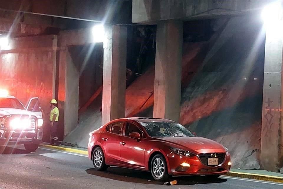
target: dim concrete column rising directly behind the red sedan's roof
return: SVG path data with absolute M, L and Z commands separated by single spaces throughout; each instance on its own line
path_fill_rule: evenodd
M 155 118 L 179 121 L 182 45 L 182 21 L 157 23 L 153 107 Z

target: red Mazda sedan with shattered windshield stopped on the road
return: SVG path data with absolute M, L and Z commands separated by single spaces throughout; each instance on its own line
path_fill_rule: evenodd
M 158 181 L 170 175 L 217 178 L 231 168 L 226 147 L 167 119 L 113 120 L 90 133 L 88 154 L 96 170 L 119 166 L 150 171 Z

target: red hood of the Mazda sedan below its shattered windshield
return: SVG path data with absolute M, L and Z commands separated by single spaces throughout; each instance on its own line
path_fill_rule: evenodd
M 159 139 L 162 141 L 170 142 L 175 145 L 181 145 L 195 151 L 199 151 L 202 149 L 225 150 L 225 147 L 219 144 L 218 142 L 203 137 L 164 137 Z

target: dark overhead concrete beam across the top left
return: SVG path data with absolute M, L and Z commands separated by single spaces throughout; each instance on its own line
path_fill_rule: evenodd
M 128 6 L 123 3 L 128 1 Z M 0 0 L 0 8 L 29 14 L 78 19 L 85 21 L 111 22 L 130 18 L 129 0 Z M 123 11 L 121 11 L 123 10 Z M 129 20 L 130 22 L 130 20 Z

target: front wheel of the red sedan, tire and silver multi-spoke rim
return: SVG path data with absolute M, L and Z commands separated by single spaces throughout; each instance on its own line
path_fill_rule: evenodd
M 167 181 L 169 174 L 166 159 L 161 154 L 156 154 L 150 163 L 150 172 L 157 181 Z

